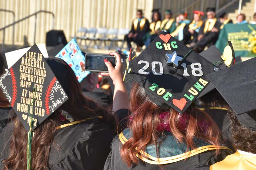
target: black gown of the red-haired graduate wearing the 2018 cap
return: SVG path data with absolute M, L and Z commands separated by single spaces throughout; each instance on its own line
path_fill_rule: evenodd
M 123 163 L 120 157 L 120 148 L 122 147 L 122 143 L 120 142 L 120 140 L 122 138 L 120 139 L 119 138 L 120 136 L 116 136 L 113 139 L 113 142 L 111 145 L 112 150 L 109 153 L 109 156 L 105 162 L 104 170 L 120 170 L 120 169 L 122 170 L 144 170 L 144 169 L 145 170 L 192 170 L 192 169 L 201 170 L 202 169 L 203 170 L 203 169 L 209 169 L 209 165 L 214 164 L 215 162 L 222 161 L 227 155 L 233 153 L 228 149 L 221 149 L 220 150 L 221 153 L 219 155 L 215 155 L 215 150 L 208 150 L 208 151 L 198 153 L 194 156 L 191 156 L 186 160 L 182 159 L 179 161 L 174 161 L 173 163 L 161 164 L 161 165 L 150 164 L 139 159 L 139 163 L 136 166 L 132 166 L 132 168 L 128 168 L 126 164 Z M 167 157 L 169 155 L 169 152 L 167 152 L 166 150 L 173 152 L 171 153 L 172 154 L 171 156 L 175 155 L 176 158 L 177 158 L 177 155 L 181 155 L 182 153 L 184 153 L 184 152 L 181 152 L 179 147 L 177 147 L 178 145 L 175 144 L 175 141 L 169 143 L 167 146 L 169 147 L 169 149 L 165 148 L 162 150 L 163 154 L 165 154 L 165 156 Z M 161 149 L 162 147 L 160 148 L 160 152 L 161 152 Z M 183 148 L 182 150 L 184 149 L 186 150 L 186 148 Z M 150 152 L 150 150 L 152 152 L 152 149 L 149 148 L 148 151 Z M 168 159 L 169 158 L 170 159 L 173 158 L 173 160 L 175 159 L 174 157 L 172 158 L 168 157 Z

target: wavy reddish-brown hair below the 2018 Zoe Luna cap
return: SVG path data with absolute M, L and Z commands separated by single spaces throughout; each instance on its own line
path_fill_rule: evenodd
M 145 151 L 149 144 L 161 144 L 159 137 L 162 132 L 156 130 L 157 125 L 161 121 L 159 115 L 167 110 L 162 110 L 153 103 L 142 86 L 137 83 L 133 84 L 130 93 L 130 110 L 133 113 L 133 120 L 129 124 L 132 132 L 131 138 L 122 145 L 120 154 L 122 160 L 130 167 L 132 164 L 138 163 L 136 154 L 140 150 Z M 170 129 L 178 143 L 185 142 L 188 149 L 195 149 L 194 139 L 198 138 L 217 147 L 216 153 L 219 152 L 221 132 L 216 123 L 205 112 L 190 106 L 186 111 L 188 113 L 187 127 L 184 129 L 179 122 L 179 113 L 172 109 L 170 111 Z M 136 113 L 136 114 L 135 114 Z M 198 122 L 205 122 L 207 127 L 205 131 L 201 131 Z M 156 150 L 158 154 L 158 150 Z

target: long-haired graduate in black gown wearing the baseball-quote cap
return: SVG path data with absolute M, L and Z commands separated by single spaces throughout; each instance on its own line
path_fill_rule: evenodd
M 34 45 L 9 72 L 2 83 L 12 84 L 16 114 L 0 135 L 0 169 L 103 169 L 116 122 L 82 94 L 70 66 Z

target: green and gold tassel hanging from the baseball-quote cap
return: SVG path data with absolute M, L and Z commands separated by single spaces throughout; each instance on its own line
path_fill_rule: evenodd
M 27 170 L 32 170 L 32 159 L 31 159 L 31 147 L 32 147 L 32 137 L 33 137 L 33 106 L 35 103 L 36 98 L 36 88 L 33 87 L 34 97 L 32 103 L 28 107 L 28 114 L 30 114 L 30 107 L 32 106 L 32 114 L 30 114 L 30 121 L 29 121 L 29 132 L 27 136 Z

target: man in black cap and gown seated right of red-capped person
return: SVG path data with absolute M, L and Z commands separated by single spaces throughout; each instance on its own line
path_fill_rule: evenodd
M 215 17 L 215 8 L 207 8 L 206 15 L 207 20 L 199 30 L 197 41 L 190 44 L 190 48 L 197 53 L 203 51 L 206 46 L 215 44 L 220 32 L 221 23 Z

